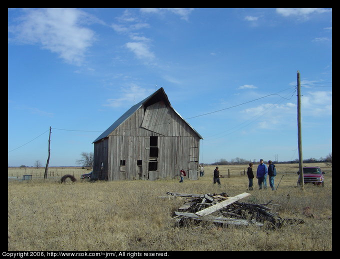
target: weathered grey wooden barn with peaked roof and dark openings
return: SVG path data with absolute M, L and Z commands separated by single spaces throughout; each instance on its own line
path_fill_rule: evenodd
M 171 106 L 164 89 L 133 105 L 94 141 L 92 178 L 197 179 L 202 137 Z

